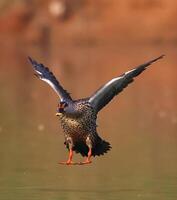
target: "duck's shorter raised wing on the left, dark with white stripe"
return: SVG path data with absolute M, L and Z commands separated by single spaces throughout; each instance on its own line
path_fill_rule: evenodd
M 69 93 L 63 89 L 63 87 L 57 81 L 53 73 L 49 71 L 47 67 L 45 67 L 43 64 L 37 63 L 35 60 L 33 60 L 30 57 L 28 57 L 28 59 L 31 62 L 33 69 L 36 72 L 35 75 L 39 79 L 48 83 L 54 89 L 54 91 L 58 94 L 61 101 L 72 100 Z

